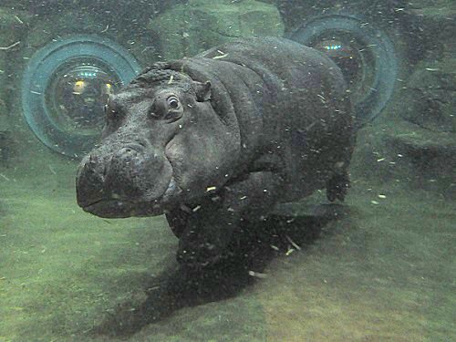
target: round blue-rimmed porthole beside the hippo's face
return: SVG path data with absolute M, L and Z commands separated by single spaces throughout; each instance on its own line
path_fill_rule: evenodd
M 22 106 L 36 137 L 59 153 L 91 150 L 109 94 L 140 72 L 123 47 L 100 36 L 69 36 L 36 51 L 22 80 Z

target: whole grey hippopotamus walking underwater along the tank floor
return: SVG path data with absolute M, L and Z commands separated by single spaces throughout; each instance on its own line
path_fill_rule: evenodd
M 180 264 L 216 263 L 278 203 L 325 188 L 344 200 L 351 108 L 334 62 L 282 38 L 156 63 L 109 97 L 78 205 L 105 218 L 164 213 Z

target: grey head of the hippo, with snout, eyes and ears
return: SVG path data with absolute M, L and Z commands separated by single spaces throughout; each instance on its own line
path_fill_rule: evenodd
M 211 83 L 156 65 L 111 96 L 100 144 L 78 168 L 78 205 L 101 217 L 152 216 L 220 188 L 240 138 L 211 93 Z

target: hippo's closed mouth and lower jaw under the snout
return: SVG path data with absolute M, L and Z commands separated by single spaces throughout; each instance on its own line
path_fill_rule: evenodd
M 181 193 L 179 185 L 171 178 L 166 191 L 158 199 L 132 201 L 130 198 L 105 197 L 88 202 L 82 208 L 104 218 L 126 218 L 131 216 L 157 216 L 171 208 Z M 171 201 L 172 199 L 172 201 Z

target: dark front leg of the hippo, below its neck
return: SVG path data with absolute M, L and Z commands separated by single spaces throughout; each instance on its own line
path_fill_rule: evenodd
M 178 261 L 205 266 L 220 259 L 244 218 L 260 219 L 274 207 L 281 183 L 271 171 L 252 172 L 193 208 L 182 230 Z

